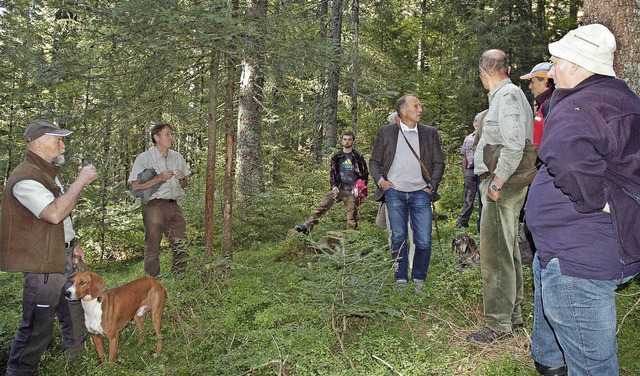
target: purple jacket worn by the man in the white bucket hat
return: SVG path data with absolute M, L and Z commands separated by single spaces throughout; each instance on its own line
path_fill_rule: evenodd
M 543 267 L 614 280 L 640 271 L 640 99 L 619 79 L 594 75 L 556 89 L 527 201 Z M 606 203 L 611 214 L 604 213 Z

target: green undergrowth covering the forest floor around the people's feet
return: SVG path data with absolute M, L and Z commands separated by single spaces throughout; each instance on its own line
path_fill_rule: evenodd
M 87 355 L 69 364 L 56 328 L 38 374 L 536 375 L 529 357 L 530 268 L 524 271 L 525 330 L 491 345 L 468 344 L 466 335 L 482 327 L 482 286 L 479 267 L 455 270 L 454 223 L 440 223 L 440 241 L 434 233 L 424 293 L 411 286 L 397 291 L 386 232 L 372 224 L 375 204 L 367 205 L 357 231 L 336 231 L 344 227 L 341 208 L 308 237 L 287 234 L 295 219 L 273 213 L 272 225 L 259 229 L 268 240 L 247 233 L 236 241 L 233 259 L 191 245 L 188 271 L 160 278 L 169 298 L 159 356 L 150 320 L 143 336 L 133 324 L 121 331 L 115 363 L 101 363 L 89 344 Z M 163 271 L 169 263 L 165 250 Z M 110 287 L 143 275 L 141 257 L 90 260 L 89 266 Z M 623 375 L 640 374 L 639 290 L 633 282 L 618 299 Z M 0 297 L 4 366 L 19 322 L 21 275 L 0 273 Z

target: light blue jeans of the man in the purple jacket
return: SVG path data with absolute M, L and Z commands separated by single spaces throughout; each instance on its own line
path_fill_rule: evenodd
M 548 367 L 566 363 L 570 375 L 617 375 L 616 293 L 621 280 L 562 275 L 560 262 L 542 268 L 533 258 L 531 357 Z

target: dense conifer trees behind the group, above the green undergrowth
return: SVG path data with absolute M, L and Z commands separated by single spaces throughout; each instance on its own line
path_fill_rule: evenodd
M 367 155 L 396 99 L 414 93 L 457 164 L 486 107 L 483 50 L 504 49 L 530 95 L 517 77 L 549 58 L 550 41 L 581 17 L 637 30 L 634 9 L 578 0 L 0 1 L 2 185 L 27 124 L 42 117 L 74 131 L 66 179 L 86 163 L 100 174 L 77 222 L 101 258 L 120 257 L 139 229 L 131 164 L 150 127 L 169 122 L 194 173 L 183 204 L 193 237 L 232 254 L 236 205 L 289 185 L 295 171 L 325 170 L 341 131 L 356 131 Z M 617 34 L 629 42 L 620 55 L 632 56 L 619 75 L 637 89 L 637 33 Z

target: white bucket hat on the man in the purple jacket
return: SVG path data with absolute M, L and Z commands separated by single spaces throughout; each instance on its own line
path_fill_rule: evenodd
M 589 72 L 616 76 L 613 53 L 616 38 L 606 26 L 591 24 L 571 30 L 562 39 L 549 44 L 553 56 L 577 64 Z

